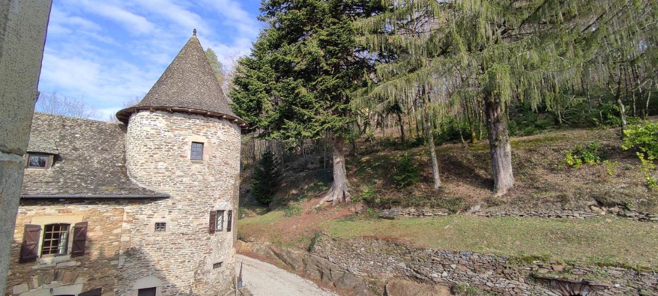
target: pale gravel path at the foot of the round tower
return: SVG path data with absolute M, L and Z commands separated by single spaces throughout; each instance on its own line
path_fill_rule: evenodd
M 242 280 L 254 296 L 338 296 L 296 274 L 243 255 L 236 255 L 237 272 L 240 262 L 244 264 Z

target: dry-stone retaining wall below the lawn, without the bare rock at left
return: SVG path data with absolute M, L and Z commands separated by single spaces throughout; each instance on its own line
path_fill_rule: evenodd
M 561 296 L 560 285 L 586 285 L 589 295 L 658 295 L 658 274 L 625 268 L 574 266 L 549 261 L 512 262 L 507 257 L 415 249 L 374 239 L 322 236 L 312 253 L 361 278 L 415 278 L 467 284 L 499 295 Z

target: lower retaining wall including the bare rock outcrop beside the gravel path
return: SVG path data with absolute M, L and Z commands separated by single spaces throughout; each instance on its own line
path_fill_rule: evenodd
M 367 289 L 372 283 L 368 280 L 382 288 L 393 279 L 410 279 L 442 287 L 470 285 L 505 296 L 658 296 L 658 274 L 653 271 L 513 260 L 469 251 L 411 248 L 376 239 L 323 235 L 311 253 L 240 241 L 238 250 L 283 262 L 297 274 L 349 291 L 349 295 L 381 295 Z

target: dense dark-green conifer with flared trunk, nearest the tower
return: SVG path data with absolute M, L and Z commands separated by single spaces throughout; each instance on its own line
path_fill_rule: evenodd
M 343 153 L 350 94 L 372 66 L 356 45 L 353 20 L 379 7 L 374 0 L 264 1 L 260 19 L 269 26 L 239 62 L 231 93 L 238 115 L 261 137 L 292 148 L 331 135 L 334 182 L 324 200 L 334 205 L 350 200 Z

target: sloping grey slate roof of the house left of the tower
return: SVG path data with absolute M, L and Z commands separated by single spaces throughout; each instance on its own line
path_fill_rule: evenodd
M 126 172 L 126 126 L 35 112 L 29 152 L 54 154 L 49 170 L 25 170 L 21 196 L 166 197 Z

